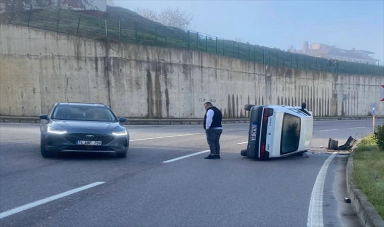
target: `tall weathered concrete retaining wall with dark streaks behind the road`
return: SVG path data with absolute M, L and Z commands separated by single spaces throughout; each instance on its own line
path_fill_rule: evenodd
M 0 115 L 36 116 L 55 101 L 103 102 L 128 118 L 202 118 L 212 101 L 226 118 L 244 104 L 307 107 L 315 116 L 366 116 L 382 76 L 265 66 L 214 54 L 105 43 L 1 24 Z

